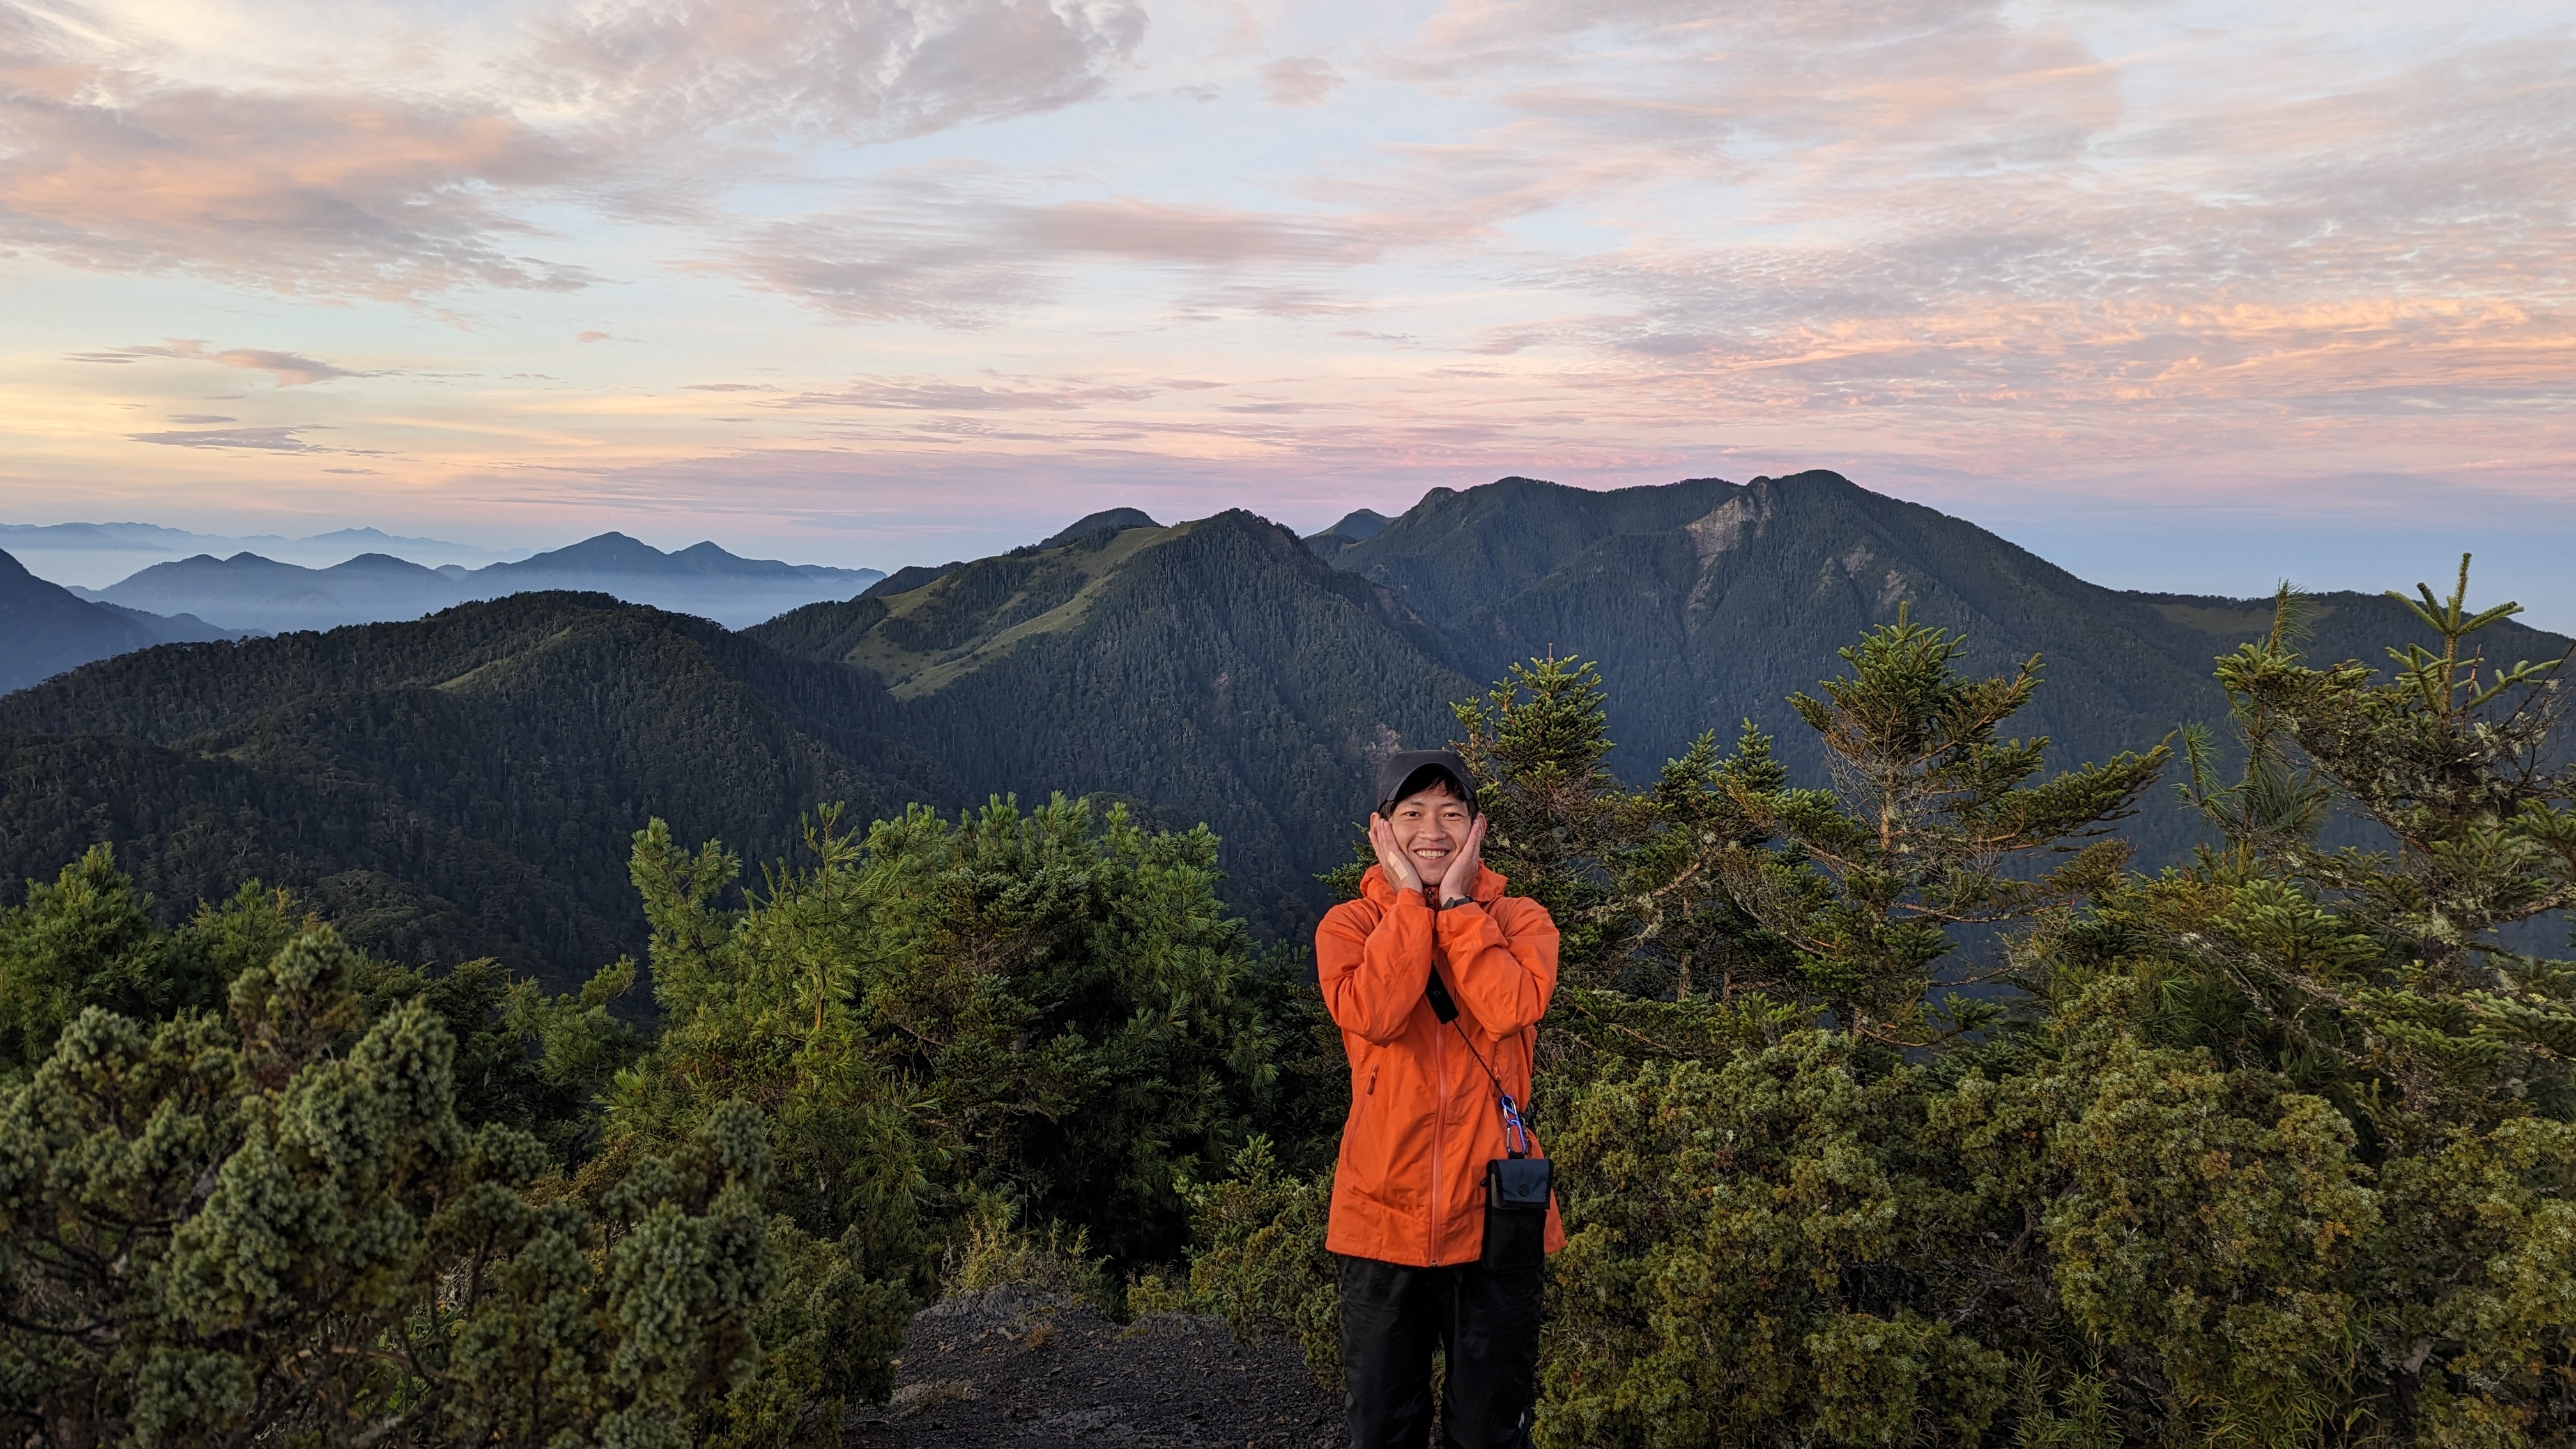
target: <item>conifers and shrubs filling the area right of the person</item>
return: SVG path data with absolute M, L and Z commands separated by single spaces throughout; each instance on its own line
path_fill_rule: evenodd
M 2483 657 L 2465 588 L 2378 670 L 2282 590 L 2154 877 L 2105 825 L 2166 748 L 2048 773 L 2040 660 L 1904 614 L 1793 699 L 1829 789 L 1752 727 L 1623 789 L 1579 660 L 1461 704 L 1486 861 L 1564 923 L 1538 1441 L 2576 1434 L 2576 964 L 2504 938 L 2576 887 L 2566 660 Z M 1327 1194 L 1247 1150 L 1190 1292 L 1329 1374 Z

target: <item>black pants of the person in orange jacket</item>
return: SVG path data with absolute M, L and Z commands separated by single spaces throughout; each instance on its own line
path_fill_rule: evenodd
M 1525 1449 L 1538 1403 L 1540 1269 L 1406 1269 L 1342 1258 L 1342 1379 L 1350 1449 L 1422 1449 L 1432 1436 L 1432 1346 L 1448 1351 L 1448 1449 Z

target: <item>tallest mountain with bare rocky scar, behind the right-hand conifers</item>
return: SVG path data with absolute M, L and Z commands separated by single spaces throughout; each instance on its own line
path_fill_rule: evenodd
M 1610 763 L 1633 781 L 1700 730 L 1726 737 L 1744 717 L 1814 779 L 1824 758 L 1795 727 L 1788 694 L 1842 673 L 1837 650 L 1901 606 L 1965 634 L 1973 670 L 2007 673 L 2043 655 L 2048 683 L 2014 724 L 2045 732 L 2058 763 L 2146 750 L 2187 719 L 2223 719 L 2210 660 L 2272 621 L 2269 601 L 2084 583 L 1968 521 L 1832 472 L 1615 492 L 1520 477 L 1432 490 L 1332 562 L 1422 608 L 1476 678 L 1551 647 L 1597 660 L 1620 743 Z M 2439 583 L 2455 562 L 2424 559 Z M 2321 603 L 2316 657 L 2383 663 L 2388 639 L 2421 634 L 2388 598 Z M 2555 657 L 2568 642 L 2506 624 L 2491 647 Z M 2195 838 L 2161 794 L 2130 830 L 2159 856 Z

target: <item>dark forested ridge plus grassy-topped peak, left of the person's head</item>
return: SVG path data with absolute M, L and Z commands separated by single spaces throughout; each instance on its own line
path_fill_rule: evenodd
M 0 699 L 0 871 L 111 841 L 173 908 L 260 877 L 386 951 L 562 977 L 634 949 L 626 848 L 654 815 L 757 866 L 817 802 L 1061 789 L 1213 825 L 1229 902 L 1296 936 L 1370 753 L 1445 740 L 1471 688 L 1401 601 L 1249 513 L 1095 529 L 744 634 L 528 593 Z

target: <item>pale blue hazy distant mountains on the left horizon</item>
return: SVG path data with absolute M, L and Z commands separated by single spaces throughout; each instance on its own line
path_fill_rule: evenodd
M 569 588 L 744 627 L 817 598 L 850 598 L 881 578 L 881 570 L 742 559 L 716 544 L 665 554 L 626 534 L 600 534 L 474 570 L 422 567 L 384 552 L 330 567 L 252 552 L 227 559 L 196 554 L 152 565 L 108 588 L 72 593 L 155 614 L 196 614 L 232 629 L 286 632 L 420 619 L 474 598 Z

